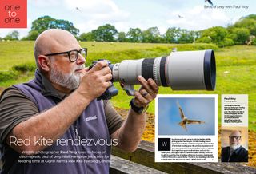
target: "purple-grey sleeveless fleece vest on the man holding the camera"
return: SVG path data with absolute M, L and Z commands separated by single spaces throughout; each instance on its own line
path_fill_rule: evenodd
M 37 71 L 34 80 L 14 85 L 31 101 L 34 101 L 39 113 L 54 107 L 63 100 L 57 93 L 46 90 L 42 82 L 45 80 L 46 78 Z M 2 173 L 109 172 L 111 143 L 102 101 L 92 101 L 78 120 L 59 139 L 68 143 L 63 145 L 60 141 L 58 144 L 55 142 L 41 153 L 35 156 L 25 156 L 25 158 L 4 144 L 1 149 L 3 152 Z M 34 140 L 34 137 L 31 137 L 31 140 Z M 83 144 L 81 144 L 82 141 Z

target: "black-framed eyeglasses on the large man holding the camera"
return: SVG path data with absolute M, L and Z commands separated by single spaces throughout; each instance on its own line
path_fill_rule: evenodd
M 61 52 L 61 53 L 48 53 L 45 56 L 54 56 L 54 55 L 58 55 L 58 54 L 64 54 L 67 53 L 69 56 L 69 59 L 71 62 L 77 61 L 78 60 L 78 55 L 79 53 L 82 55 L 82 57 L 84 57 L 86 59 L 87 57 L 87 49 L 86 48 L 82 48 L 80 50 L 74 49 L 74 50 L 70 50 L 70 51 L 66 51 L 66 52 Z

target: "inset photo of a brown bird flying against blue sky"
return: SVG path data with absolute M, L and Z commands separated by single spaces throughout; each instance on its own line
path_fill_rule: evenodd
M 168 96 L 168 97 L 166 97 Z M 215 135 L 217 95 L 158 97 L 158 135 Z

